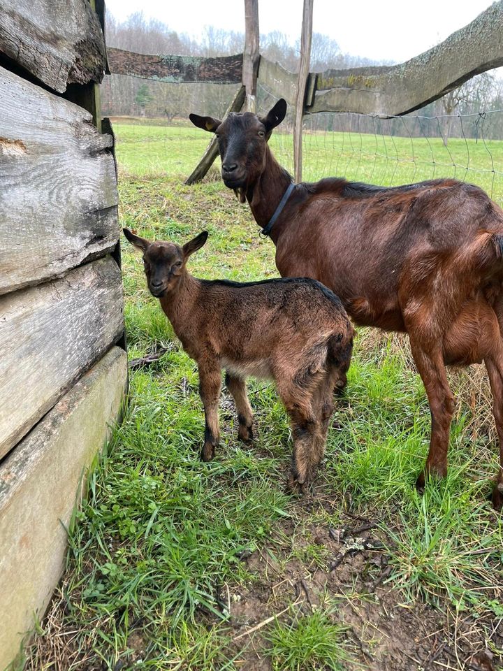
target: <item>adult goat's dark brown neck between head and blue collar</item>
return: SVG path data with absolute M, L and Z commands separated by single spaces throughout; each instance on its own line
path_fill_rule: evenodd
M 264 168 L 258 180 L 247 189 L 251 214 L 262 229 L 267 226 L 288 189 L 291 178 L 279 165 L 269 147 L 265 148 Z

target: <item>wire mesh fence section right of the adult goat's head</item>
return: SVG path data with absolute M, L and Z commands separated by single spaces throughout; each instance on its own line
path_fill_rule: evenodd
M 262 89 L 259 113 L 277 98 Z M 277 159 L 293 171 L 291 120 L 270 140 Z M 281 127 L 279 127 L 281 128 Z M 453 177 L 474 182 L 503 203 L 503 110 L 469 115 L 381 118 L 316 113 L 302 124 L 302 179 L 336 175 L 377 185 Z

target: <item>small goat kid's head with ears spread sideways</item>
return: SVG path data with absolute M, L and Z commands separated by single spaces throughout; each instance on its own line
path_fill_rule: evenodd
M 148 288 L 152 296 L 156 298 L 161 298 L 177 289 L 180 278 L 184 275 L 187 259 L 203 247 L 208 236 L 207 231 L 203 231 L 180 247 L 170 242 L 150 243 L 149 240 L 136 236 L 129 229 L 122 230 L 131 245 L 143 254 L 143 267 L 147 275 Z

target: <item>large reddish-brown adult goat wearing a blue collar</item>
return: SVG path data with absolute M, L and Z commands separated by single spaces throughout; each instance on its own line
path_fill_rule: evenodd
M 432 428 L 417 480 L 444 477 L 454 397 L 445 366 L 486 363 L 500 442 L 493 505 L 503 504 L 503 210 L 453 179 L 378 187 L 327 178 L 292 185 L 267 141 L 286 102 L 265 117 L 224 122 L 191 114 L 217 134 L 221 174 L 276 245 L 283 277 L 307 276 L 340 296 L 353 321 L 409 334 Z

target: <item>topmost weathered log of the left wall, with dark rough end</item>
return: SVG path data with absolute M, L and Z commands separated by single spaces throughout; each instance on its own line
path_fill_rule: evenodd
M 86 0 L 3 0 L 0 52 L 63 93 L 101 82 L 106 66 L 99 18 Z

